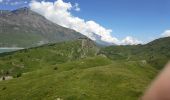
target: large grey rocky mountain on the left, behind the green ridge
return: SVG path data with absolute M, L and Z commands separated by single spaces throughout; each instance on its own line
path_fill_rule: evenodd
M 0 47 L 34 47 L 84 38 L 80 33 L 52 23 L 29 8 L 0 11 Z

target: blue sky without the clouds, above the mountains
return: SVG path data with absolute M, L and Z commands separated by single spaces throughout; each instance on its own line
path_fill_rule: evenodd
M 11 5 L 12 2 L 20 2 Z M 27 2 L 25 2 L 27 1 Z M 17 9 L 28 6 L 29 0 L 4 0 L 0 9 Z M 46 0 L 54 2 L 55 0 Z M 132 36 L 147 42 L 160 37 L 170 29 L 170 0 L 63 0 L 78 3 L 80 11 L 74 16 L 93 20 L 107 29 L 111 35 L 123 39 Z M 8 2 L 8 4 L 6 3 Z

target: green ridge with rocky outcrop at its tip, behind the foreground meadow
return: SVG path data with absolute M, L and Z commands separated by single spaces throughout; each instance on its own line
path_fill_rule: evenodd
M 6 56 L 1 54 L 0 57 L 0 76 L 5 73 L 15 76 L 44 66 L 95 56 L 97 52 L 98 48 L 91 40 L 82 39 L 5 53 Z

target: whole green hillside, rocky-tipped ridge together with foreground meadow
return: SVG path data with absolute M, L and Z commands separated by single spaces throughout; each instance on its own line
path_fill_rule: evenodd
M 0 54 L 0 100 L 137 100 L 157 70 L 99 49 L 81 38 Z

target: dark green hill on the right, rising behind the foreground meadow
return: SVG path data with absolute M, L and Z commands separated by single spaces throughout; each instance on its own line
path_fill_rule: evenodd
M 145 45 L 110 46 L 100 53 L 112 60 L 142 60 L 162 69 L 170 59 L 170 37 L 156 39 Z

